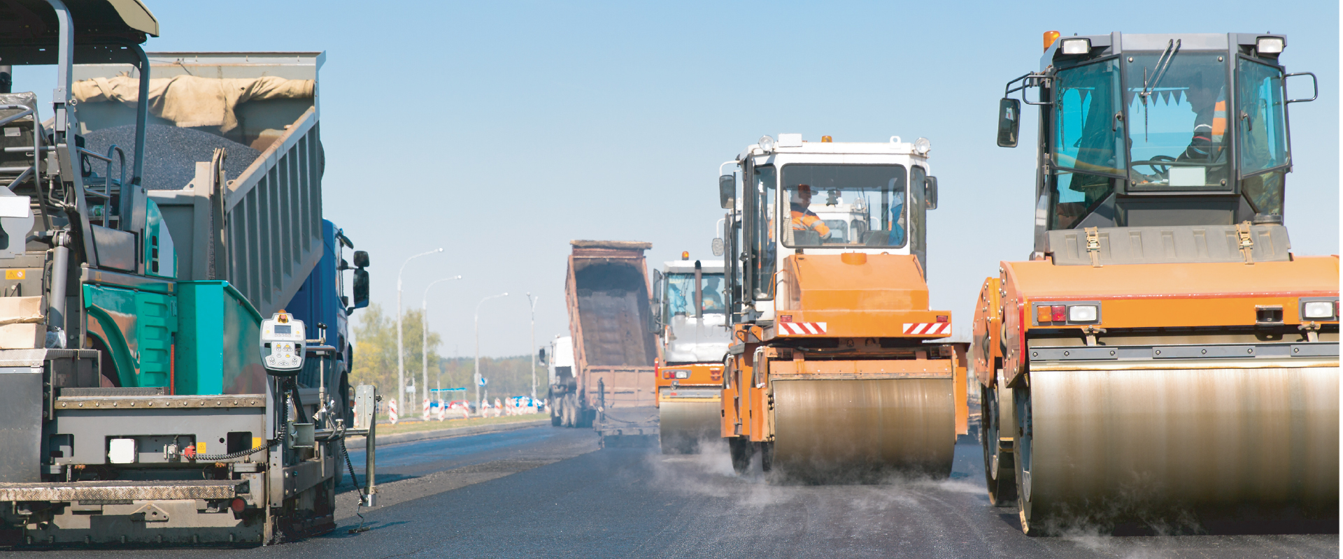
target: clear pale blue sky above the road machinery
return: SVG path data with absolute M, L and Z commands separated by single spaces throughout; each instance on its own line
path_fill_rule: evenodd
M 1339 7 L 1264 3 L 349 3 L 146 0 L 150 51 L 326 51 L 325 213 L 373 261 L 373 302 L 424 286 L 442 353 L 529 350 L 568 331 L 571 239 L 653 243 L 650 263 L 712 257 L 720 162 L 761 134 L 927 137 L 941 206 L 929 286 L 958 332 L 999 260 L 1031 249 L 1030 147 L 994 145 L 1003 83 L 1037 68 L 1041 32 L 1288 35 L 1287 223 L 1297 253 L 1338 253 Z M 1022 126 L 1030 146 L 1034 114 Z M 356 318 L 359 314 L 356 314 Z

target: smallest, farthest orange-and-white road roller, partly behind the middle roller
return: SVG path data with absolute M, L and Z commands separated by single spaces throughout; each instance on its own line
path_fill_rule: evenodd
M 723 260 L 662 263 L 653 271 L 650 330 L 658 336 L 658 440 L 663 454 L 693 454 L 719 440 L 723 359 L 728 353 Z

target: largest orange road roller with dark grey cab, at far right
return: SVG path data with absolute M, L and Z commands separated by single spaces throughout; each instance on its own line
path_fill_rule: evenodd
M 984 475 L 1026 534 L 1336 519 L 1339 261 L 1291 252 L 1275 34 L 1045 34 L 1034 249 L 979 292 Z M 1308 229 L 1307 229 L 1308 231 Z M 1170 525 L 1170 524 L 1167 524 Z

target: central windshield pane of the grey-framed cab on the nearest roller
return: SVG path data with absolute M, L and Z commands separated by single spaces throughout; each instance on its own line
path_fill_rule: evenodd
M 1226 188 L 1225 56 L 1129 56 L 1124 102 L 1135 189 Z

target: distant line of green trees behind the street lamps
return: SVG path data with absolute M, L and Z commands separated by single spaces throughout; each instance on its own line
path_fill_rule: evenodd
M 424 343 L 424 315 L 418 308 L 402 315 L 402 350 L 406 366 L 406 383 L 420 385 L 422 355 L 428 355 L 430 389 L 465 387 L 466 399 L 475 398 L 473 373 L 474 357 L 442 357 L 438 354 L 443 338 L 428 332 Z M 481 375 L 489 383 L 489 398 L 509 395 L 529 395 L 532 374 L 528 369 L 532 355 L 481 357 Z M 379 304 L 363 308 L 355 326 L 355 363 L 351 367 L 351 385 L 376 385 L 379 394 L 388 398 L 396 395 L 396 318 Z M 545 369 L 536 367 L 536 395 L 545 397 Z M 420 393 L 423 394 L 423 393 Z M 483 395 L 483 389 L 482 389 Z

